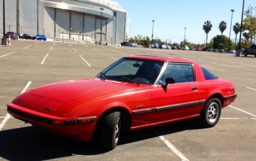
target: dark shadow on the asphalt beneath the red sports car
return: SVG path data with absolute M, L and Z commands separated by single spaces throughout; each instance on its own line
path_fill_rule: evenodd
M 142 130 L 123 131 L 119 146 L 190 129 L 201 129 L 196 119 Z M 7 160 L 46 160 L 107 152 L 95 142 L 65 139 L 32 126 L 0 131 L 0 143 L 0 156 Z

